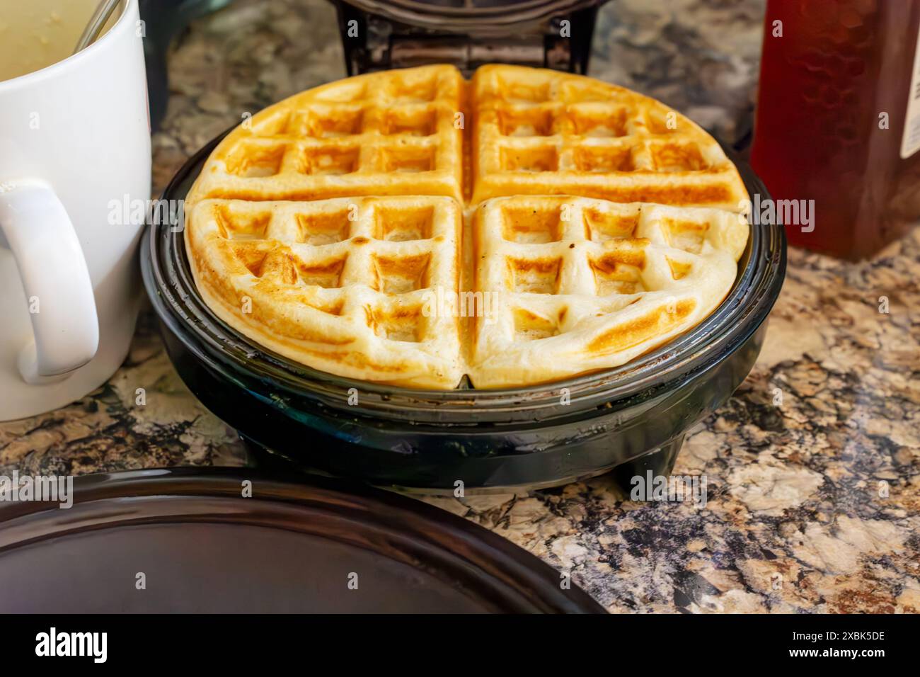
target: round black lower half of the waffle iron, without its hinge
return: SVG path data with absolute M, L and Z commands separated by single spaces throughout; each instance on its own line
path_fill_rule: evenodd
M 225 134 L 178 170 L 164 200 L 185 198 Z M 752 169 L 732 159 L 748 193 L 766 199 Z M 376 385 L 271 353 L 208 309 L 181 229 L 168 223 L 148 228 L 141 265 L 179 376 L 263 461 L 280 457 L 428 491 L 454 491 L 457 483 L 465 490 L 529 489 L 613 471 L 628 490 L 637 474 L 671 473 L 687 430 L 747 377 L 783 283 L 786 239 L 780 224 L 755 220 L 729 297 L 649 354 L 587 376 L 495 391 Z

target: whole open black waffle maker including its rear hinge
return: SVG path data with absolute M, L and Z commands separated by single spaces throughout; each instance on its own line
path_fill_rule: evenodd
M 584 73 L 601 4 L 333 2 L 350 75 L 425 63 L 468 74 L 486 62 Z M 565 20 L 569 38 L 561 37 Z M 164 200 L 185 197 L 224 134 L 179 169 Z M 750 167 L 727 153 L 748 192 L 768 197 Z M 526 490 L 612 472 L 628 491 L 636 475 L 671 473 L 686 432 L 750 372 L 782 286 L 786 240 L 780 224 L 754 220 L 728 298 L 670 343 L 622 367 L 500 391 L 417 391 L 295 364 L 213 315 L 192 281 L 181 228 L 151 226 L 141 255 L 178 374 L 236 427 L 257 465 L 293 462 L 427 492 Z

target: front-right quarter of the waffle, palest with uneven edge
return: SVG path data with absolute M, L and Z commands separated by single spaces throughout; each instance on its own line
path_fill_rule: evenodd
M 475 218 L 475 285 L 496 300 L 475 320 L 471 379 L 538 383 L 648 352 L 719 305 L 747 237 L 719 209 L 490 200 Z

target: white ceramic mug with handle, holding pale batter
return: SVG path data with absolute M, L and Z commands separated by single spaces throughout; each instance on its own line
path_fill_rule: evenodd
M 111 213 L 150 197 L 137 3 L 82 52 L 0 82 L 0 420 L 83 397 L 128 353 L 142 224 Z

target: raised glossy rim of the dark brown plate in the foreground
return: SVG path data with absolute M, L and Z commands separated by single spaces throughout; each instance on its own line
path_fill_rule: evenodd
M 240 496 L 240 483 L 244 480 L 253 483 L 251 498 Z M 203 517 L 197 513 L 183 515 L 169 512 L 153 520 L 149 516 L 138 517 L 130 501 L 121 510 L 113 509 L 113 502 L 118 499 L 152 496 L 157 498 L 157 507 L 165 505 L 164 497 L 175 496 L 225 498 L 232 501 L 234 508 L 228 507 L 225 514 Z M 98 505 L 92 506 L 93 503 Z M 503 596 L 502 603 L 517 609 L 526 602 L 523 603 L 525 611 L 606 613 L 604 607 L 574 583 L 569 589 L 561 589 L 558 571 L 535 555 L 446 510 L 365 484 L 320 476 L 296 481 L 289 475 L 247 468 L 152 468 L 81 475 L 74 481 L 74 506 L 88 511 L 88 514 L 79 518 L 71 510 L 58 508 L 54 503 L 0 504 L 0 554 L 68 533 L 151 521 L 219 523 L 236 520 L 283 528 L 263 524 L 262 520 L 270 519 L 272 506 L 281 519 L 282 506 L 290 508 L 292 505 L 327 514 L 329 519 L 356 520 L 368 531 L 385 533 L 387 539 L 404 544 L 409 553 L 430 555 L 429 563 L 441 562 L 444 570 L 450 566 L 454 571 L 460 571 L 461 567 L 465 571 L 478 571 L 483 580 L 488 581 L 488 586 L 484 584 L 480 590 L 484 593 L 483 600 L 487 599 L 486 595 L 497 593 Z M 258 515 L 259 521 L 245 519 L 240 506 L 245 506 L 253 516 Z M 98 509 L 93 511 L 90 508 Z M 313 533 L 311 530 L 317 529 L 313 520 L 302 523 L 303 527 L 297 531 Z M 354 542 L 348 542 L 346 537 L 335 540 L 353 546 L 364 545 L 366 549 L 366 543 L 358 539 Z M 490 601 L 496 602 L 494 599 Z

